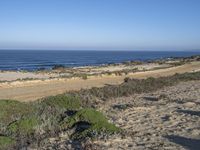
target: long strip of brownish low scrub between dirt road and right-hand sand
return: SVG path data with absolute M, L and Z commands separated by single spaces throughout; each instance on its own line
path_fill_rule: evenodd
M 76 92 L 76 94 L 87 101 L 92 97 L 97 97 L 101 100 L 106 100 L 112 97 L 122 97 L 132 95 L 135 93 L 151 92 L 163 88 L 165 86 L 175 85 L 181 81 L 190 80 L 200 80 L 200 72 L 175 74 L 173 76 L 159 78 L 149 77 L 147 79 L 142 80 L 125 78 L 125 82 L 120 85 L 107 85 L 101 88 L 81 90 L 79 92 Z M 94 100 L 94 98 L 92 100 Z

